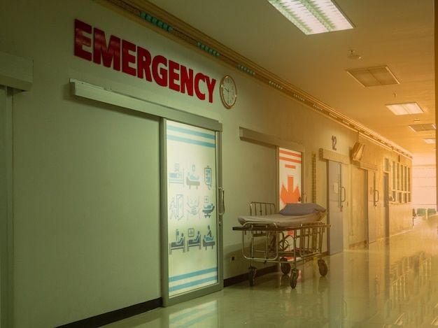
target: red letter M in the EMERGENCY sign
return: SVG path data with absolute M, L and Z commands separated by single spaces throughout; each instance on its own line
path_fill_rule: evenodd
M 94 47 L 93 47 L 93 62 L 100 64 L 104 62 L 104 66 L 111 67 L 120 71 L 120 38 L 111 36 L 108 46 L 106 46 L 105 32 L 94 27 Z

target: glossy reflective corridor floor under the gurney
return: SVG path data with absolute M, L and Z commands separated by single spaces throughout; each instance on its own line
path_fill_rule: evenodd
M 438 218 L 414 229 L 326 257 L 329 272 L 301 267 L 270 273 L 169 308 L 106 327 L 438 327 Z

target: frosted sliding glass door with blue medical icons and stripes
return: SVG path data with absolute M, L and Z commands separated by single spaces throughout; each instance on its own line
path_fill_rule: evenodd
M 222 287 L 217 131 L 164 120 L 164 305 Z M 219 207 L 219 208 L 218 208 Z

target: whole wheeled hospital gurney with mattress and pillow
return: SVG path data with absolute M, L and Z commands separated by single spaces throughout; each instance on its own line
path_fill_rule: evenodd
M 250 261 L 248 278 L 251 286 L 255 281 L 254 262 L 279 263 L 284 274 L 291 272 L 292 288 L 297 285 L 297 263 L 306 259 L 318 257 L 320 275 L 327 274 L 322 248 L 323 234 L 330 224 L 320 222 L 325 216 L 325 208 L 316 204 L 288 206 L 292 215 L 276 213 L 272 203 L 251 202 L 250 215 L 240 216 L 241 226 L 233 227 L 233 230 L 242 232 L 242 252 L 243 257 Z M 246 235 L 249 235 L 249 240 Z

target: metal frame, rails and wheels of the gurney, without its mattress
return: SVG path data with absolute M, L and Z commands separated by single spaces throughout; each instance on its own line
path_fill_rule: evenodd
M 250 215 L 271 215 L 276 213 L 275 204 L 252 201 Z M 242 232 L 242 253 L 250 261 L 248 280 L 250 286 L 255 283 L 257 269 L 254 262 L 278 263 L 284 274 L 290 274 L 290 287 L 297 286 L 297 264 L 306 259 L 318 257 L 318 269 L 321 276 L 327 274 L 327 264 L 323 259 L 323 234 L 330 224 L 309 222 L 290 227 L 278 227 L 275 223 L 246 222 L 234 231 Z M 245 238 L 249 234 L 248 238 Z M 293 269 L 291 271 L 291 264 Z

